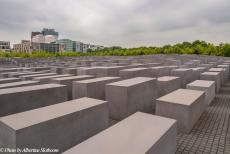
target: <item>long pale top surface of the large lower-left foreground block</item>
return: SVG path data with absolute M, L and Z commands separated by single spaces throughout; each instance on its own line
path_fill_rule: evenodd
M 9 116 L 1 117 L 0 121 L 14 130 L 19 130 L 31 125 L 42 123 L 57 117 L 62 117 L 67 114 L 85 110 L 103 103 L 106 101 L 92 99 L 92 98 L 80 98 L 55 105 L 50 105 L 34 110 L 29 110 Z

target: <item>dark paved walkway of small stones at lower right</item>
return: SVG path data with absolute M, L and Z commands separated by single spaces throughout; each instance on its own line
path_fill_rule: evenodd
M 190 134 L 178 134 L 176 154 L 230 154 L 230 81 L 225 83 Z

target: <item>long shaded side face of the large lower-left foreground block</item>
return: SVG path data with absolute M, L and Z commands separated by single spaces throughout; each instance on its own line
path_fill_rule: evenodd
M 17 131 L 18 148 L 55 148 L 63 152 L 108 127 L 107 103 Z

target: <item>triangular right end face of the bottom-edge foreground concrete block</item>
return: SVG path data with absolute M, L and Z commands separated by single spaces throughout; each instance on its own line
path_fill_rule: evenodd
M 174 123 L 146 154 L 175 154 L 177 146 L 176 137 L 177 123 Z

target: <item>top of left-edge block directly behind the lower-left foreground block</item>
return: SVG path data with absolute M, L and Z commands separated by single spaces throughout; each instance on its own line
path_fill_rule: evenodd
M 65 85 L 61 85 L 61 84 L 41 84 L 41 85 L 33 85 L 33 86 L 24 86 L 24 87 L 0 89 L 0 95 L 9 94 L 9 93 L 20 93 L 20 92 L 40 90 L 40 89 L 57 88 L 57 87 L 65 87 Z

